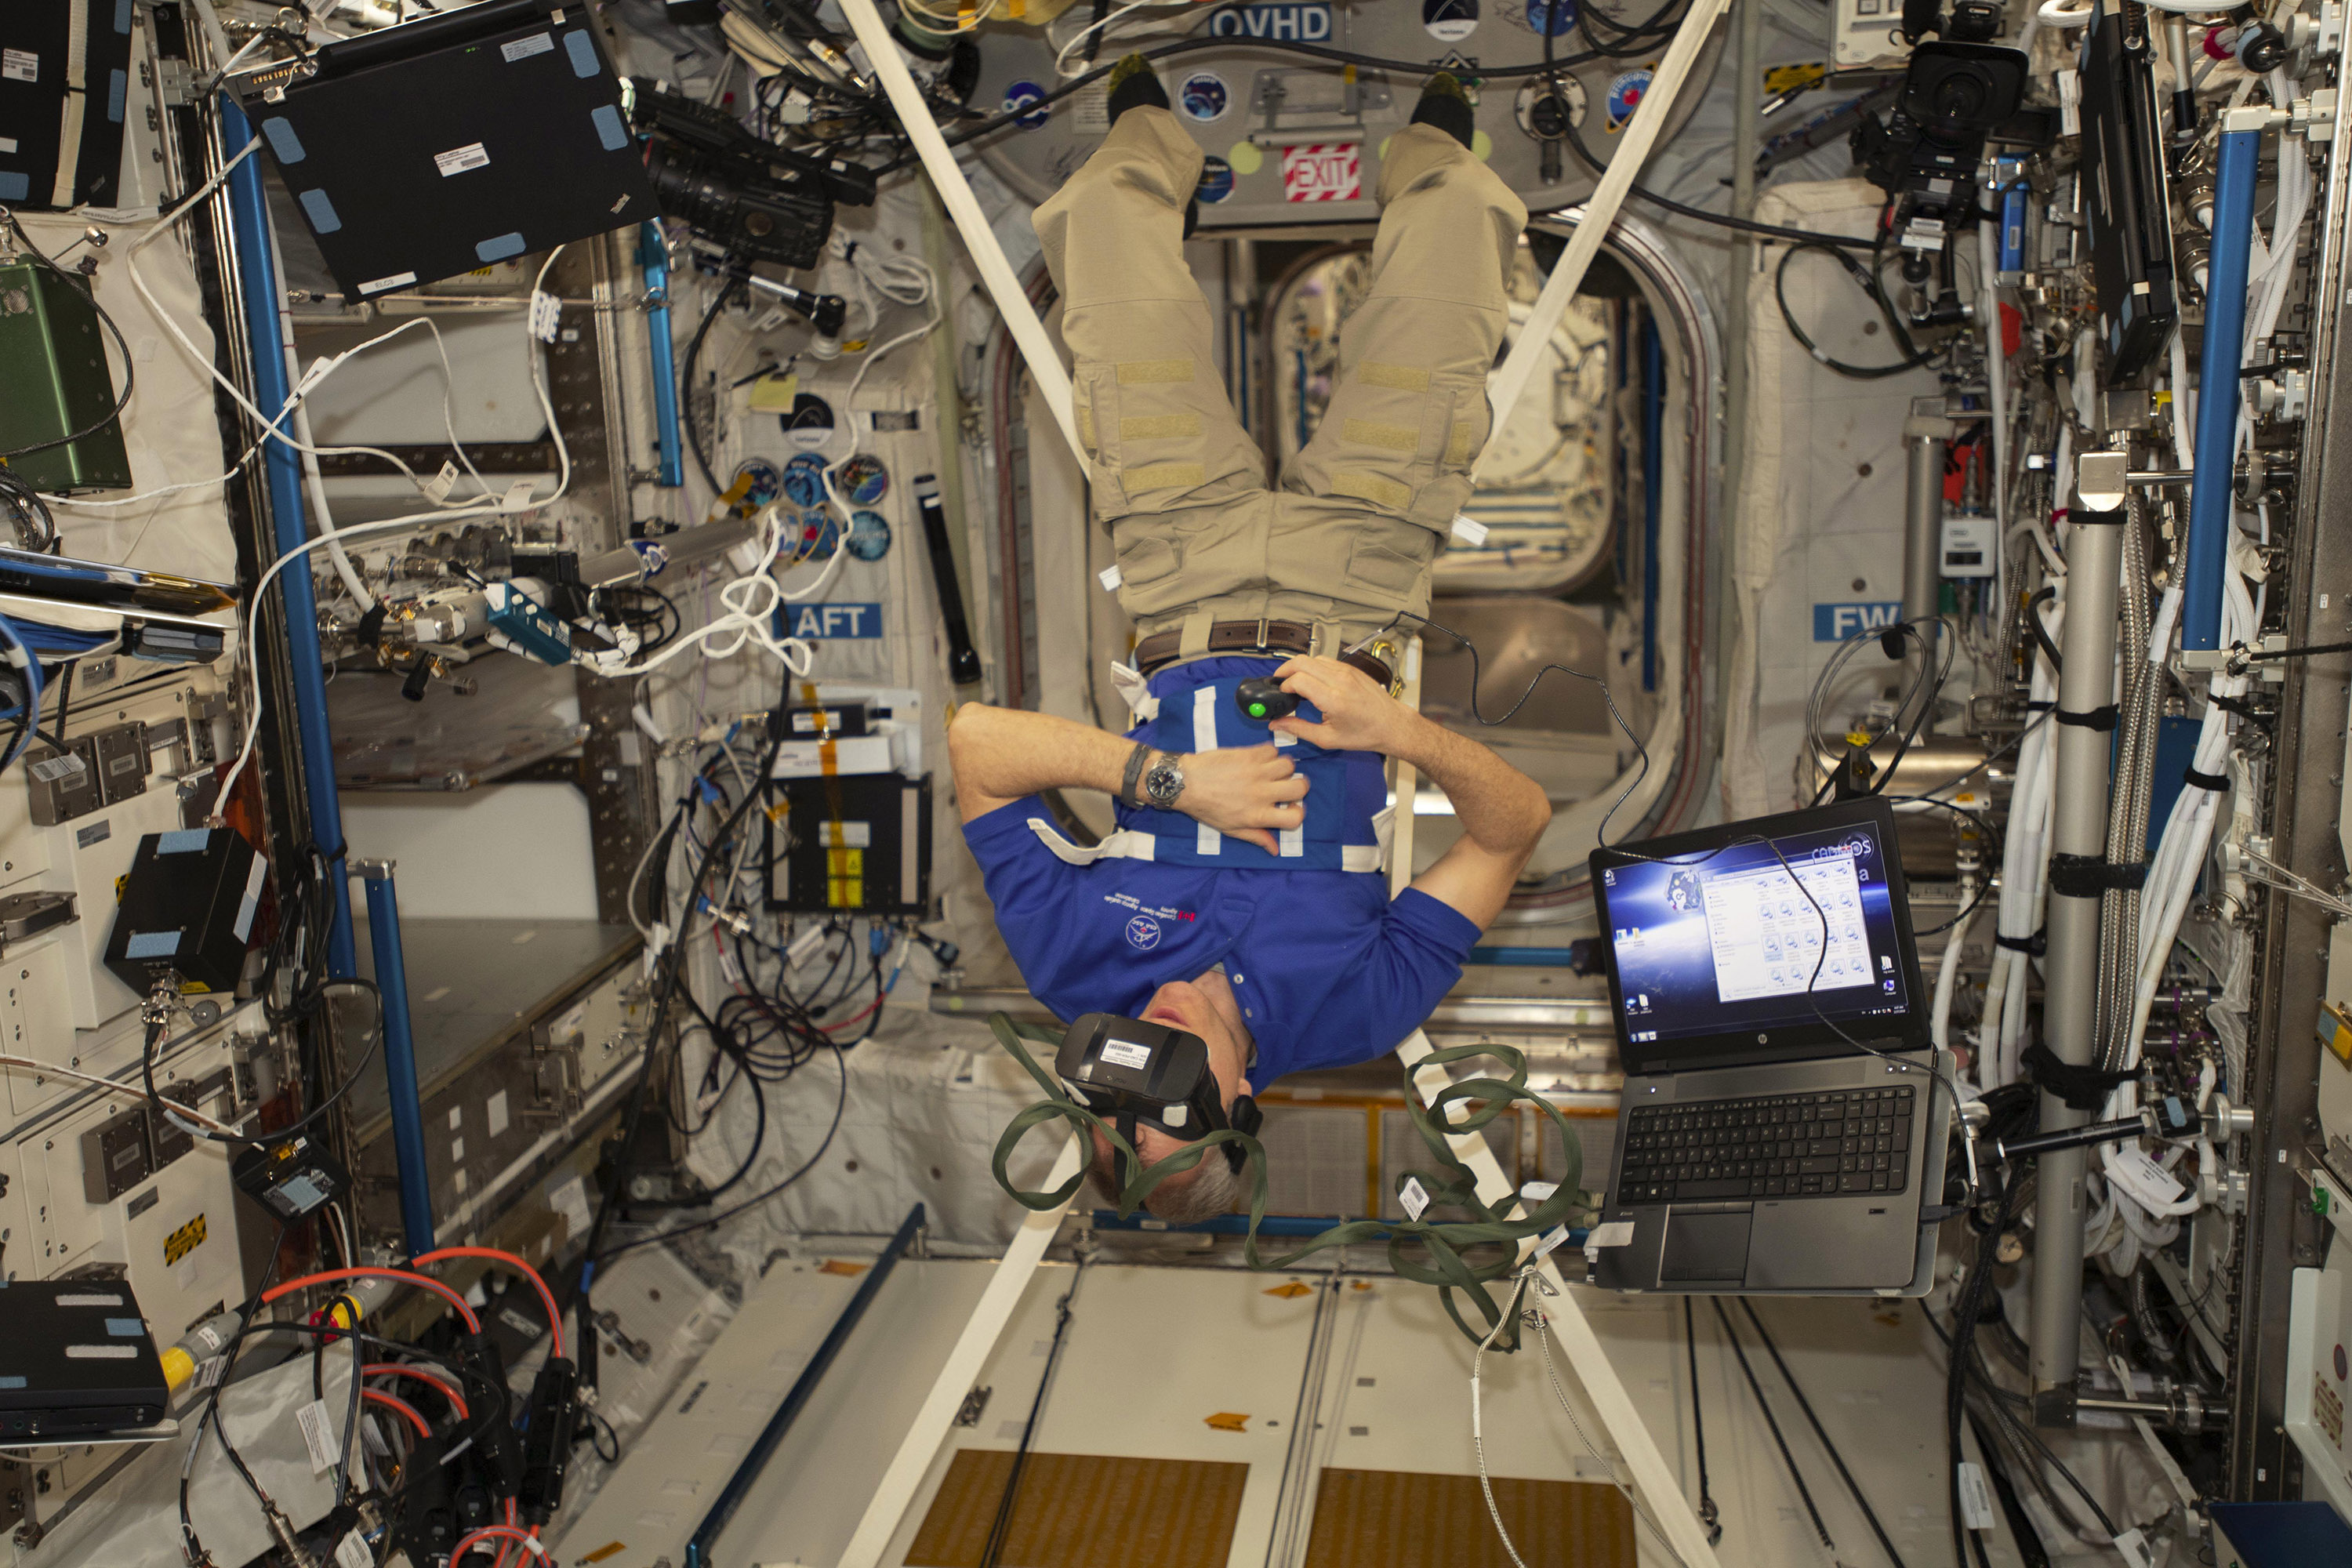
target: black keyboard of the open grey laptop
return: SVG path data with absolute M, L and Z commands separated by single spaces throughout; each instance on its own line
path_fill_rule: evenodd
M 1903 1192 L 1910 1088 L 1637 1105 L 1618 1204 Z

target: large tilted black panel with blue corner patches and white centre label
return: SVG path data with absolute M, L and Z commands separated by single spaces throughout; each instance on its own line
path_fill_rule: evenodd
M 489 0 L 318 49 L 245 113 L 348 303 L 654 216 L 581 0 Z

